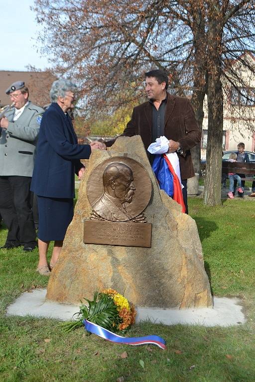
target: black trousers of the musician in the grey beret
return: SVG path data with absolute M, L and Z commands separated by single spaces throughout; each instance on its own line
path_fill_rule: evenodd
M 8 228 L 6 244 L 11 246 L 36 244 L 30 183 L 30 177 L 0 176 L 0 214 Z

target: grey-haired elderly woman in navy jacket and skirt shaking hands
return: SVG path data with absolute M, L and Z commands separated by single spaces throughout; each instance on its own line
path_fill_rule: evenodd
M 60 254 L 68 225 L 73 218 L 74 174 L 79 178 L 91 148 L 79 145 L 67 110 L 74 107 L 76 85 L 68 80 L 55 81 L 50 90 L 51 105 L 44 112 L 36 149 L 31 190 L 38 196 L 39 264 L 37 271 L 48 276 L 46 254 L 54 240 L 50 260 L 53 268 Z

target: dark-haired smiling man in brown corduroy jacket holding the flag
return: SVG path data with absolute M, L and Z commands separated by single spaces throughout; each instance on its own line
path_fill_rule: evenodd
M 183 199 L 187 205 L 187 179 L 194 177 L 190 149 L 201 141 L 193 107 L 188 98 L 167 93 L 168 76 L 160 69 L 145 73 L 145 91 L 148 101 L 134 107 L 131 120 L 122 136 L 140 135 L 147 151 L 156 138 L 169 139 L 168 153 L 177 152 L 183 188 Z M 115 140 L 102 143 L 102 149 L 113 145 Z M 148 154 L 150 163 L 153 155 Z

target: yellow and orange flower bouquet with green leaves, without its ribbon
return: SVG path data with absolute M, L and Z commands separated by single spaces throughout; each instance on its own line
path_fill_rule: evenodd
M 67 333 L 84 325 L 84 320 L 92 322 L 114 333 L 125 333 L 135 321 L 136 311 L 133 304 L 129 304 L 126 297 L 114 289 L 102 292 L 96 290 L 93 300 L 88 306 L 82 304 L 75 321 L 61 323 L 60 326 Z M 86 326 L 85 326 L 86 327 Z

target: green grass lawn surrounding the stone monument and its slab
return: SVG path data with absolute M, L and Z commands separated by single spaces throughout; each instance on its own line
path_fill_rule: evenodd
M 163 337 L 163 351 L 87 337 L 83 329 L 65 334 L 57 320 L 6 317 L 10 302 L 25 290 L 46 287 L 47 279 L 35 272 L 36 250 L 0 250 L 0 381 L 115 382 L 124 377 L 129 382 L 254 382 L 255 203 L 226 200 L 205 207 L 201 199 L 190 198 L 189 210 L 197 222 L 212 292 L 239 296 L 246 324 L 206 328 L 144 322 L 131 329 L 130 336 Z M 0 245 L 5 237 L 2 228 Z

